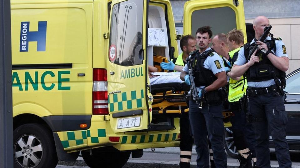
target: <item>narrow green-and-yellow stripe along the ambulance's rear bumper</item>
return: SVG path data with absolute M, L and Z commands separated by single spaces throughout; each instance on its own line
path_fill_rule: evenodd
M 178 133 L 154 134 L 154 135 L 130 135 L 123 136 L 122 143 L 144 143 L 144 142 L 165 142 L 178 139 Z

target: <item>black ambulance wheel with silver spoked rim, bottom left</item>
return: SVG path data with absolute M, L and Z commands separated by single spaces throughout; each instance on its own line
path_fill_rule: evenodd
M 13 130 L 14 168 L 55 168 L 58 162 L 52 133 L 40 124 Z

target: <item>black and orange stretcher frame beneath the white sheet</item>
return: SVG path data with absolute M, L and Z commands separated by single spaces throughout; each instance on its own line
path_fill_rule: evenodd
M 153 95 L 153 114 L 182 114 L 188 112 L 188 91 L 190 86 L 186 83 L 162 83 L 150 85 Z M 223 108 L 224 123 L 230 121 L 232 113 Z

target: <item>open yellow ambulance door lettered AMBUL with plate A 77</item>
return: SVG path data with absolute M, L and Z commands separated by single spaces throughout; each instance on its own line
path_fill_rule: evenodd
M 148 129 L 146 0 L 113 0 L 107 58 L 108 110 L 115 133 Z

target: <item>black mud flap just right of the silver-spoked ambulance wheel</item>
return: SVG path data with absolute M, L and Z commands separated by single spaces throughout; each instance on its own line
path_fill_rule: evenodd
M 54 137 L 54 142 L 55 142 L 55 147 L 56 147 L 56 153 L 57 153 L 57 158 L 60 161 L 67 161 L 67 162 L 76 162 L 76 159 L 79 156 L 79 152 L 72 152 L 68 153 L 65 150 L 63 150 L 63 145 L 62 142 L 60 141 L 58 134 L 53 133 Z

